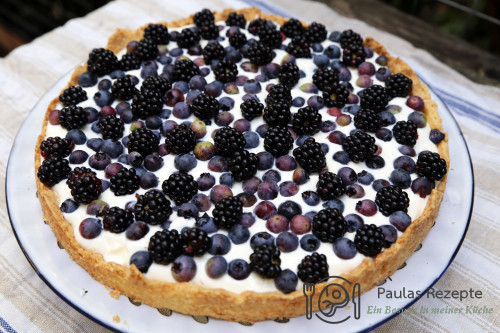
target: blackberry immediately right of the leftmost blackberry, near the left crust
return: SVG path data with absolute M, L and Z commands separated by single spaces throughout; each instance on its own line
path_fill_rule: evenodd
M 76 167 L 68 174 L 66 184 L 78 203 L 88 204 L 96 200 L 102 192 L 101 180 L 95 172 L 85 167 Z

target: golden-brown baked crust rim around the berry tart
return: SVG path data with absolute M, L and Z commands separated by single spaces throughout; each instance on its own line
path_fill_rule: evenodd
M 215 12 L 215 20 L 225 20 L 229 13 L 237 12 L 244 14 L 247 21 L 256 17 L 272 20 L 283 24 L 288 18 L 269 15 L 260 12 L 257 8 L 245 8 L 240 10 L 226 9 Z M 168 27 L 181 27 L 193 24 L 193 16 L 162 24 Z M 108 41 L 107 49 L 118 53 L 124 49 L 130 40 L 142 38 L 143 26 L 137 30 L 118 29 Z M 431 100 L 428 87 L 420 81 L 413 70 L 400 58 L 389 55 L 387 50 L 376 40 L 367 37 L 364 45 L 370 47 L 379 55 L 388 58 L 388 68 L 392 73 L 403 73 L 413 80 L 412 95 L 420 96 L 425 103 L 423 112 L 427 116 L 431 128 L 443 131 L 441 118 L 439 117 L 436 104 Z M 87 65 L 81 65 L 75 69 L 68 83 L 76 85 L 78 76 L 85 72 Z M 45 138 L 48 123 L 48 115 L 53 110 L 59 99 L 54 99 L 48 106 L 43 122 L 42 132 L 38 138 L 35 150 L 35 170 L 41 165 L 40 144 Z M 448 135 L 438 144 L 440 156 L 449 166 Z M 205 315 L 221 318 L 229 321 L 257 322 L 272 320 L 283 317 L 297 317 L 304 315 L 306 311 L 306 298 L 302 290 L 290 294 L 279 291 L 257 293 L 245 291 L 233 293 L 225 289 L 205 288 L 191 282 L 167 283 L 147 279 L 134 265 L 127 267 L 112 262 L 106 262 L 100 254 L 84 249 L 74 237 L 72 225 L 66 221 L 58 205 L 56 194 L 50 187 L 41 183 L 37 177 L 38 198 L 43 210 L 43 217 L 52 228 L 57 240 L 68 251 L 70 257 L 82 266 L 95 280 L 113 289 L 115 292 L 126 295 L 135 301 L 142 302 L 155 308 L 169 308 L 173 311 L 189 315 Z M 391 276 L 405 260 L 415 251 L 422 242 L 431 226 L 433 225 L 443 198 L 446 187 L 446 176 L 430 194 L 427 205 L 422 215 L 413 221 L 406 231 L 388 249 L 375 258 L 365 258 L 363 262 L 353 271 L 342 276 L 351 283 L 361 285 L 361 293 L 375 287 L 380 281 Z M 332 281 L 329 281 L 330 283 Z M 335 281 L 340 285 L 347 286 L 344 281 Z M 318 310 L 317 295 L 328 284 L 323 282 L 316 285 L 316 293 L 313 299 L 313 311 Z

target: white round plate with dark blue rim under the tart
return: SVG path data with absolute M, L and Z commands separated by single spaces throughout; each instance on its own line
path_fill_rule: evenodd
M 7 168 L 6 194 L 12 228 L 28 261 L 40 278 L 69 305 L 97 323 L 115 330 L 130 332 L 191 331 L 208 329 L 249 332 L 255 330 L 275 333 L 306 332 L 317 329 L 365 331 L 390 320 L 397 313 L 367 314 L 369 306 L 384 308 L 407 308 L 417 299 L 378 298 L 377 288 L 362 295 L 361 318 L 351 318 L 341 324 L 328 324 L 314 317 L 292 318 L 287 323 L 266 321 L 253 326 L 225 322 L 206 317 L 190 316 L 159 311 L 149 306 L 136 306 L 127 297 L 118 300 L 109 296 L 109 291 L 96 282 L 79 265 L 73 262 L 66 251 L 61 250 L 50 227 L 43 223 L 42 211 L 36 198 L 33 156 L 38 133 L 50 101 L 59 94 L 69 81 L 70 74 L 52 87 L 33 108 L 19 129 L 12 148 Z M 442 276 L 455 257 L 465 237 L 472 212 L 474 179 L 469 152 L 460 129 L 444 103 L 435 95 L 443 126 L 449 134 L 451 166 L 446 193 L 435 226 L 423 242 L 423 246 L 406 262 L 403 269 L 388 279 L 383 287 L 387 290 L 426 291 Z M 446 242 L 443 241 L 446 235 Z M 352 314 L 346 308 L 339 309 L 335 319 Z M 118 315 L 119 322 L 113 321 Z M 338 316 L 338 317 L 337 317 Z M 330 318 L 330 320 L 332 320 Z

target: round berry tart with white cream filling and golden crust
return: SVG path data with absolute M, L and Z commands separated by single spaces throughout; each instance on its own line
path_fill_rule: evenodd
M 393 274 L 448 165 L 404 61 L 256 8 L 118 29 L 48 106 L 35 153 L 44 218 L 94 279 L 248 322 L 303 315 L 305 283 L 363 293 Z

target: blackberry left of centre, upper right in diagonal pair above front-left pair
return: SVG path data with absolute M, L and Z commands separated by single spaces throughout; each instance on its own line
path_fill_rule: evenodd
M 176 205 L 182 205 L 198 193 L 198 183 L 187 173 L 173 173 L 161 185 L 163 193 Z

